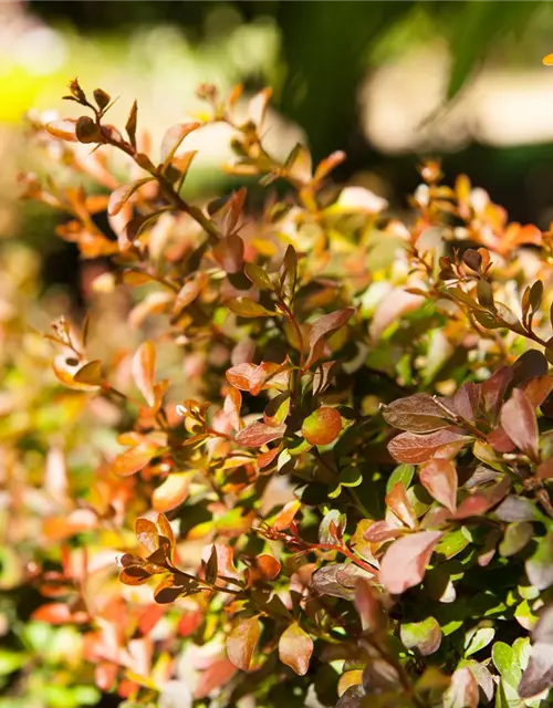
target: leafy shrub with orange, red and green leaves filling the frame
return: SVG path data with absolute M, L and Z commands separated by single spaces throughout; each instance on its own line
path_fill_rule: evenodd
M 128 707 L 551 705 L 553 235 L 434 162 L 401 222 L 343 153 L 276 160 L 267 90 L 202 86 L 160 150 L 70 91 L 23 183 L 102 268 L 46 335 L 32 620 Z M 182 196 L 213 122 L 267 198 Z

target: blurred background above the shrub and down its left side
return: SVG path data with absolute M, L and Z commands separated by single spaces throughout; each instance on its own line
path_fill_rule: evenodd
M 23 626 L 39 601 L 21 592 L 28 586 L 19 556 L 50 509 L 40 496 L 48 446 L 65 445 L 60 429 L 75 417 L 58 399 L 44 404 L 48 392 L 58 391 L 50 379 L 44 400 L 36 399 L 51 351 L 41 335 L 25 336 L 30 329 L 44 332 L 62 312 L 74 313 L 97 274 L 55 237 L 59 215 L 18 198 L 17 175 L 36 160 L 25 113 L 75 115 L 61 96 L 76 75 L 87 91 L 101 86 L 118 96 L 111 113 L 116 124 L 136 97 L 140 125 L 156 145 L 165 128 L 200 110 L 198 84 L 225 92 L 241 82 L 247 94 L 270 85 L 268 138 L 282 155 L 298 139 L 307 140 L 315 159 L 346 150 L 337 179 L 365 185 L 396 212 L 418 184 L 420 159 L 440 156 L 447 180 L 467 173 L 511 220 L 546 229 L 553 221 L 553 67 L 542 58 L 551 52 L 552 0 L 0 0 L 0 643 L 7 647 L 0 649 L 0 694 L 20 680 L 13 674 L 24 673 L 25 652 L 46 657 L 31 666 L 28 681 L 23 676 L 20 702 L 0 699 L 2 708 L 98 700 L 88 677 L 75 686 L 67 669 L 76 633 Z M 200 153 L 187 190 L 207 199 L 231 188 L 219 169 L 229 156 L 226 132 L 192 137 L 197 144 L 188 149 Z M 128 336 L 119 305 L 113 299 L 102 305 L 114 347 Z M 106 430 L 109 415 L 96 412 Z M 73 456 L 73 470 L 88 470 L 87 456 L 97 455 L 88 444 L 113 447 L 113 434 L 94 425 L 92 441 L 87 430 L 65 433 L 67 447 L 83 449 L 86 460 Z M 2 436 L 21 451 L 17 465 Z M 49 465 L 55 467 L 55 458 Z M 21 496 L 21 520 L 11 506 L 14 479 L 30 480 L 32 492 Z M 30 508 L 36 519 L 24 516 Z M 104 696 L 100 705 L 116 702 Z

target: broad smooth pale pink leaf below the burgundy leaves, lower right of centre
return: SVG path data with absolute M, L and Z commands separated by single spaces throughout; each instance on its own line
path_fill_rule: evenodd
M 418 585 L 441 537 L 439 531 L 418 531 L 394 541 L 380 563 L 382 585 L 395 595 Z

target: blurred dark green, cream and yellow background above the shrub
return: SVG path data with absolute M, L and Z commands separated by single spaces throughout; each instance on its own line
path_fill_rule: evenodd
M 2 235 L 36 231 L 12 179 L 21 117 L 66 113 L 73 75 L 119 95 L 121 116 L 136 96 L 154 135 L 198 108 L 200 82 L 271 85 L 276 144 L 345 149 L 338 178 L 362 173 L 397 207 L 419 158 L 442 155 L 448 177 L 467 171 L 513 219 L 553 218 L 552 0 L 3 0 L 0 20 Z M 200 147 L 202 191 L 226 153 Z

